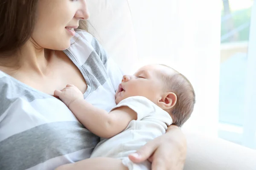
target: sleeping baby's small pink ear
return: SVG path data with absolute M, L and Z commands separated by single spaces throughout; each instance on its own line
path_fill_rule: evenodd
M 158 106 L 163 110 L 168 110 L 176 105 L 177 96 L 175 93 L 167 92 L 162 95 L 161 99 L 158 101 Z

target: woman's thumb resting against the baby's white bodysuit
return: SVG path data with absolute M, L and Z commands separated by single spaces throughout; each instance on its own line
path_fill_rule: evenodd
M 141 147 L 139 150 L 137 150 L 136 153 L 132 153 L 129 155 L 129 159 L 133 161 L 134 163 L 140 163 L 142 161 L 145 161 L 153 155 L 154 151 L 157 149 L 157 141 L 152 140 L 151 142 L 148 142 L 143 147 Z

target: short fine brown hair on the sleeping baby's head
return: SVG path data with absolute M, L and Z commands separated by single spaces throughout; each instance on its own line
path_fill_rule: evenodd
M 160 65 L 168 67 L 176 73 L 174 75 L 162 74 L 162 77 L 167 89 L 177 96 L 176 105 L 172 108 L 172 113 L 169 114 L 172 116 L 173 125 L 181 127 L 189 119 L 194 110 L 194 88 L 183 74 L 180 74 L 167 65 Z

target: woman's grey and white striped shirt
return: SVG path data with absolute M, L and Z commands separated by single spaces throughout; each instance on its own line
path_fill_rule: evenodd
M 87 82 L 84 99 L 110 111 L 122 72 L 89 33 L 72 42 L 64 53 Z M 0 71 L 0 170 L 52 170 L 90 157 L 98 142 L 63 102 Z

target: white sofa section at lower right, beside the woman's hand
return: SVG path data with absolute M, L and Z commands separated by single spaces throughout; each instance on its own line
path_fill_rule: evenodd
M 184 170 L 256 170 L 256 150 L 185 131 L 187 158 Z

